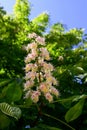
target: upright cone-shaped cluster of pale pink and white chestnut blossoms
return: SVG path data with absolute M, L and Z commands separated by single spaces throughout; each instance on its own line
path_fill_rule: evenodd
M 52 102 L 54 97 L 59 96 L 56 89 L 57 80 L 53 77 L 53 65 L 49 52 L 45 47 L 45 39 L 36 33 L 28 35 L 31 43 L 26 46 L 27 56 L 25 57 L 25 98 L 31 98 L 34 103 L 40 99 Z

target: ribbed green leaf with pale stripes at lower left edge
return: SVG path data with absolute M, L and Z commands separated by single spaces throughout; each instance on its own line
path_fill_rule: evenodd
M 14 117 L 15 119 L 19 119 L 21 116 L 21 110 L 18 107 L 12 107 L 7 103 L 0 103 L 0 110 L 9 116 Z

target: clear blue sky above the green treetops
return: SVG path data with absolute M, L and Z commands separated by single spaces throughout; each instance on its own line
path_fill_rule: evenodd
M 0 0 L 0 5 L 8 13 L 16 0 Z M 62 22 L 68 28 L 85 28 L 87 30 L 87 0 L 29 0 L 31 2 L 31 16 L 38 16 L 47 11 L 50 15 L 50 23 Z

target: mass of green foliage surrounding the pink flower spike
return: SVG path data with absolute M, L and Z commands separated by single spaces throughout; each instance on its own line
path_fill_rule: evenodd
M 49 15 L 29 20 L 28 0 L 16 0 L 14 14 L 0 7 L 0 129 L 87 129 L 87 35 L 83 29 L 68 30 L 61 23 L 50 27 Z M 60 98 L 51 104 L 24 99 L 25 46 L 28 33 L 45 37 L 55 66 Z

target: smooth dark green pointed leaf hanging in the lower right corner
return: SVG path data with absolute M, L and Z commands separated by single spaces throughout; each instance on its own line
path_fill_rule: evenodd
M 81 99 L 76 105 L 68 110 L 65 115 L 65 120 L 67 122 L 73 121 L 81 115 L 84 101 L 85 99 Z

